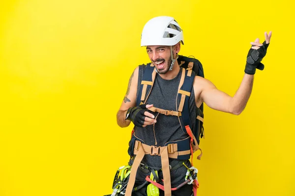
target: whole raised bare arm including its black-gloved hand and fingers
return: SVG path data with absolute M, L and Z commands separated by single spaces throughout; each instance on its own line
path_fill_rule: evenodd
M 263 44 L 259 43 L 259 39 L 256 39 L 255 42 L 251 42 L 252 47 L 247 56 L 245 74 L 234 97 L 218 90 L 209 80 L 196 76 L 194 90 L 197 106 L 205 102 L 208 107 L 212 109 L 235 115 L 239 115 L 244 110 L 252 92 L 256 69 L 264 69 L 264 65 L 261 61 L 266 55 L 271 31 L 269 35 L 265 33 L 265 37 L 266 41 Z

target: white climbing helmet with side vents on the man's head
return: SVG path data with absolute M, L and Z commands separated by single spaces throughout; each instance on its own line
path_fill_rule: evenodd
M 141 46 L 174 46 L 183 44 L 183 33 L 180 26 L 169 16 L 152 18 L 144 26 Z

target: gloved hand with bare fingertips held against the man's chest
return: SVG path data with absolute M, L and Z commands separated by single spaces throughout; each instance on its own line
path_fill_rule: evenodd
M 148 108 L 152 106 L 152 104 L 142 104 L 136 107 L 130 107 L 127 110 L 125 120 L 132 121 L 135 126 L 139 127 L 145 127 L 156 123 L 157 121 L 154 120 L 154 115 L 148 112 Z

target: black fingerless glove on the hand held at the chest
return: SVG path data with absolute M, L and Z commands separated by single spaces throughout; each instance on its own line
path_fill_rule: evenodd
M 148 111 L 147 104 L 130 107 L 127 110 L 125 120 L 132 121 L 135 126 L 143 127 L 145 123 L 145 118 L 147 117 L 144 115 L 146 111 Z

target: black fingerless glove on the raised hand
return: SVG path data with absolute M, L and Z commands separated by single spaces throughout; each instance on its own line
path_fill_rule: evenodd
M 269 43 L 266 44 L 264 41 L 263 45 L 260 46 L 260 49 L 250 49 L 247 55 L 247 63 L 245 67 L 245 73 L 255 74 L 256 69 L 264 70 L 264 64 L 261 63 L 263 57 L 266 55 L 266 50 Z

